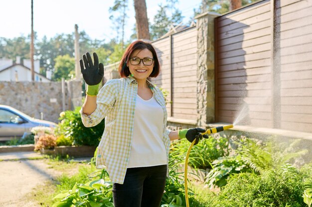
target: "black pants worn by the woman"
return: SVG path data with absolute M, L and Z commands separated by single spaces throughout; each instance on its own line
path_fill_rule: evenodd
M 113 184 L 115 207 L 159 207 L 167 165 L 128 168 L 124 184 Z

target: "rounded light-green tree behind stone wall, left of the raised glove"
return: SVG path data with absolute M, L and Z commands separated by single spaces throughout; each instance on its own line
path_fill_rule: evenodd
M 70 79 L 75 75 L 75 58 L 68 54 L 64 56 L 57 56 L 55 59 L 54 71 L 52 73 L 52 80 L 60 81 L 63 78 Z

